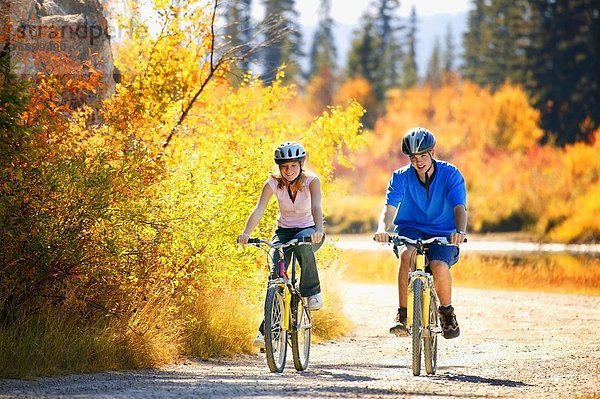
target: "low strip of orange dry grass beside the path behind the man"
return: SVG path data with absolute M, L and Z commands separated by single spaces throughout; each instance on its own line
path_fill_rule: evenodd
M 348 279 L 395 284 L 397 260 L 390 251 L 344 251 L 340 264 Z M 461 256 L 452 268 L 456 286 L 600 295 L 600 259 L 571 255 L 520 258 Z

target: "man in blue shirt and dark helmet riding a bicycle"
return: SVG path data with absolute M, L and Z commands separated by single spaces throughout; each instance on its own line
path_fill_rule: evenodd
M 452 276 L 450 267 L 458 261 L 460 245 L 467 228 L 467 194 L 465 181 L 452 164 L 433 158 L 435 136 L 429 130 L 410 129 L 402 139 L 402 152 L 408 155 L 410 164 L 396 170 L 390 179 L 386 204 L 381 210 L 377 232 L 373 239 L 389 241 L 389 231 L 395 231 L 412 239 L 434 236 L 449 237 L 456 246 L 432 244 L 428 249 L 429 267 L 440 299 L 438 312 L 444 338 L 460 335 L 454 308 L 452 307 Z M 390 333 L 408 335 L 406 327 L 406 302 L 408 273 L 414 247 L 407 247 L 400 254 L 398 270 L 398 313 Z

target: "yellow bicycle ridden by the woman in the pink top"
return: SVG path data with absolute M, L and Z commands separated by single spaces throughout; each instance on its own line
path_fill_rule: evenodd
M 281 373 L 285 368 L 288 333 L 294 367 L 306 370 L 310 355 L 311 316 L 298 291 L 296 256 L 292 251 L 291 276 L 288 277 L 285 253 L 298 245 L 311 244 L 310 237 L 293 239 L 285 244 L 274 244 L 262 238 L 250 238 L 249 245 L 266 245 L 279 251 L 276 275 L 269 276 L 265 297 L 264 337 L 269 370 Z

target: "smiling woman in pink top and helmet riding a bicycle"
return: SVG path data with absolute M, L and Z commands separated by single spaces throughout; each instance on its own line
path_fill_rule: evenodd
M 294 238 L 311 237 L 313 245 L 301 245 L 294 248 L 302 273 L 300 275 L 300 294 L 305 298 L 309 310 L 323 307 L 321 286 L 317 271 L 315 251 L 323 244 L 323 211 L 321 209 L 321 182 L 315 175 L 304 168 L 306 151 L 295 142 L 281 144 L 275 150 L 274 161 L 278 173 L 274 173 L 263 185 L 256 207 L 250 213 L 246 226 L 238 236 L 240 244 L 246 244 L 250 233 L 263 217 L 265 209 L 275 194 L 279 205 L 277 229 L 273 236 L 274 243 L 286 243 Z M 286 261 L 291 252 L 286 254 Z M 276 275 L 279 253 L 271 251 L 271 275 Z M 262 328 L 262 325 L 261 325 Z M 254 345 L 264 346 L 263 332 L 254 340 Z

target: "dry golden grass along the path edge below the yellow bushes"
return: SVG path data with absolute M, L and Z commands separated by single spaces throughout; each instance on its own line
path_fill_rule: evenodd
M 262 319 L 263 274 L 246 281 L 245 293 L 235 287 L 203 292 L 179 314 L 149 303 L 129 320 L 111 317 L 92 325 L 67 305 L 16 317 L 16 322 L 0 328 L 0 378 L 134 369 L 173 363 L 182 356 L 207 359 L 255 352 L 252 340 Z M 337 271 L 327 268 L 320 274 L 325 307 L 313 313 L 315 342 L 351 329 L 339 311 Z

